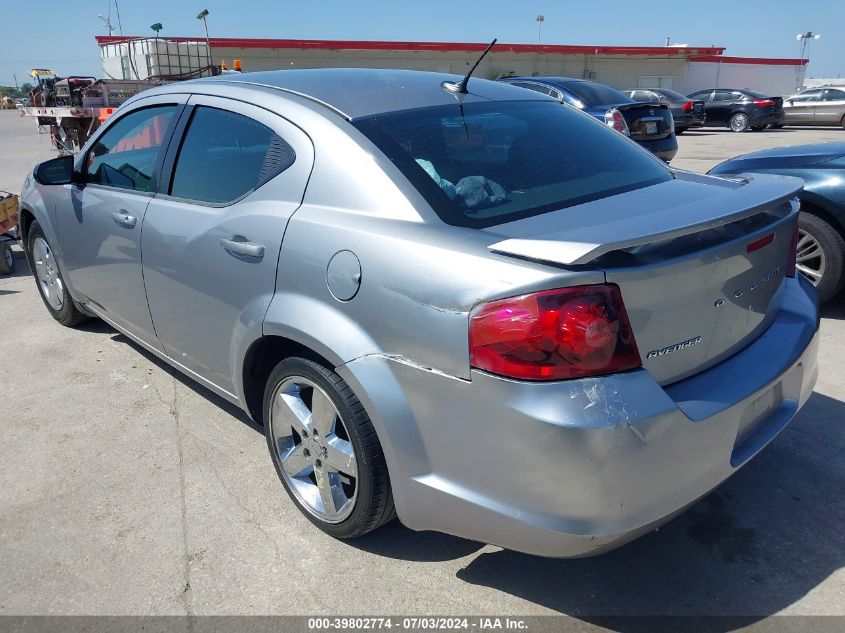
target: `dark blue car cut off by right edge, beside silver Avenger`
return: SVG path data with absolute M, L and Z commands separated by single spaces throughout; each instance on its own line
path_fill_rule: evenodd
M 804 180 L 798 220 L 797 268 L 832 299 L 845 285 L 845 143 L 767 149 L 737 156 L 710 174 L 780 174 Z

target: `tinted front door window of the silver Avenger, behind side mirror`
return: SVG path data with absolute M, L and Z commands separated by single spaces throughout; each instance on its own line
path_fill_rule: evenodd
M 150 192 L 162 144 L 170 137 L 176 105 L 130 112 L 107 129 L 88 152 L 85 182 Z

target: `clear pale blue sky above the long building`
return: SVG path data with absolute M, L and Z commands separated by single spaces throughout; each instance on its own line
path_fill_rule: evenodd
M 726 55 L 794 57 L 795 35 L 813 31 L 808 77 L 845 76 L 845 0 L 118 0 L 126 35 L 360 39 L 544 44 L 723 46 Z M 108 0 L 0 0 L 0 85 L 26 81 L 30 68 L 102 76 L 95 35 L 117 25 Z

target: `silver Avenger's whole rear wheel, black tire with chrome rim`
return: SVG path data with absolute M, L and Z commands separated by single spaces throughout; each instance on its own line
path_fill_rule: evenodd
M 299 357 L 276 365 L 264 391 L 264 431 L 291 500 L 327 534 L 354 538 L 395 517 L 373 424 L 331 369 Z

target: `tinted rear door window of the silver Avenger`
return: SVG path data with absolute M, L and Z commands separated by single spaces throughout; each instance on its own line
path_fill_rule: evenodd
M 179 149 L 170 195 L 228 204 L 282 173 L 295 158 L 293 148 L 263 123 L 198 106 Z

